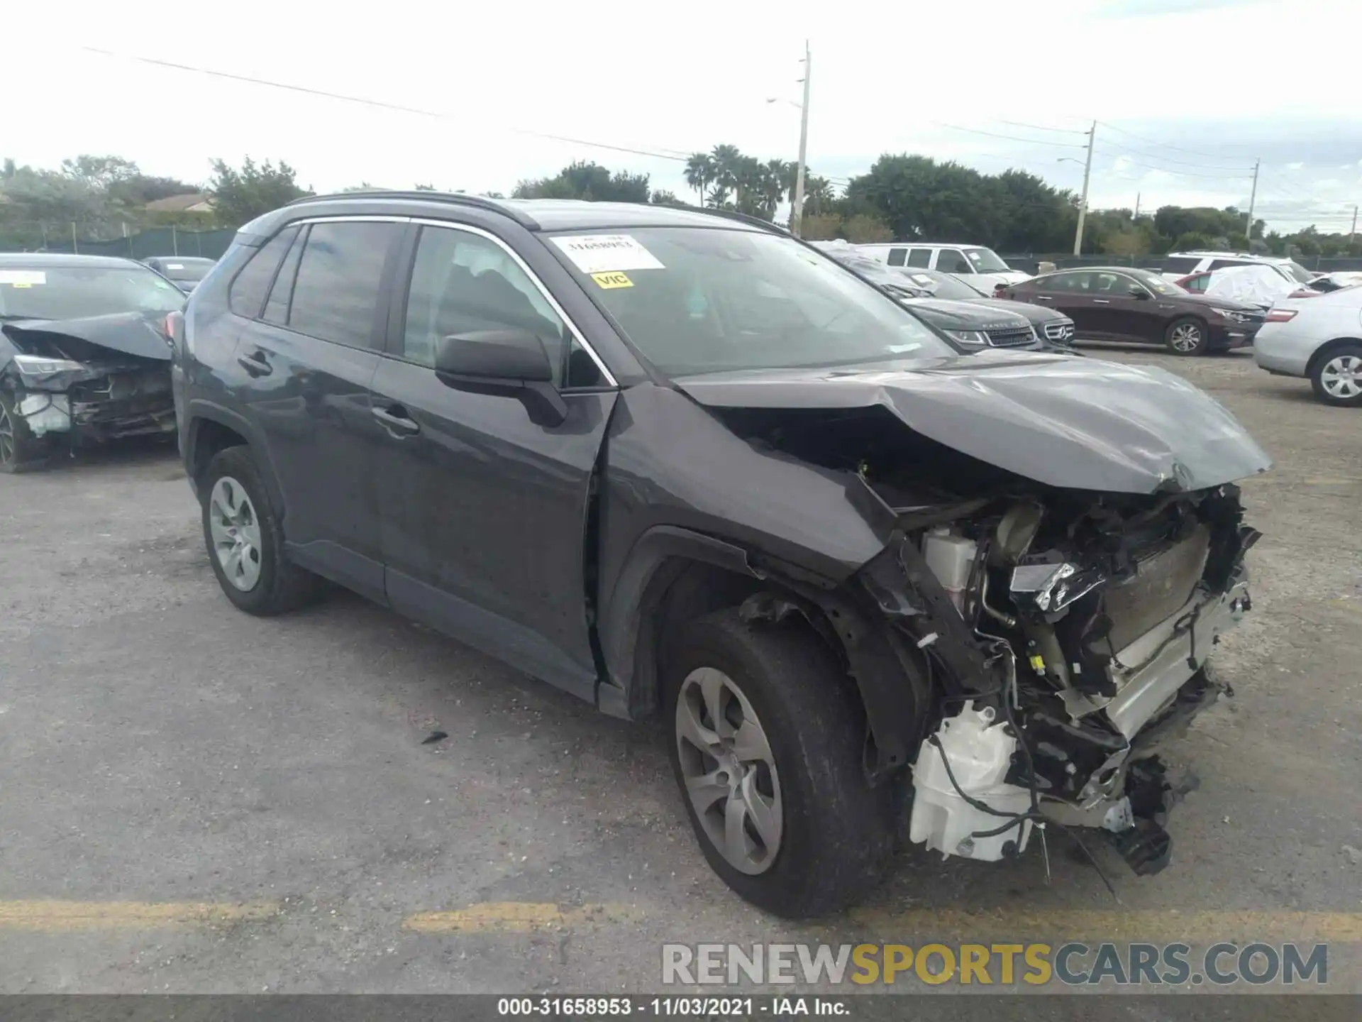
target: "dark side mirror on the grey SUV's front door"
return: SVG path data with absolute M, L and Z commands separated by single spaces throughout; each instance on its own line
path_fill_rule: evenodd
M 518 398 L 530 421 L 563 425 L 567 402 L 553 386 L 543 342 L 527 330 L 478 330 L 436 341 L 434 371 L 448 387 L 469 394 Z

